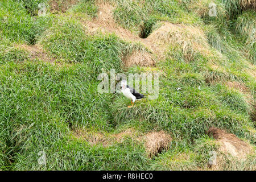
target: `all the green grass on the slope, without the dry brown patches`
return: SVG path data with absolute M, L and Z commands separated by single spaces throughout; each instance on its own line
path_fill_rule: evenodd
M 255 145 L 251 115 L 256 84 L 247 72 L 255 74 L 251 64 L 255 61 L 242 51 L 251 40 L 240 39 L 243 27 L 235 22 L 234 28 L 236 18 L 230 18 L 233 11 L 226 10 L 226 1 L 214 1 L 221 16 L 212 18 L 202 10 L 208 1 L 147 0 L 144 8 L 139 1 L 112 0 L 117 4 L 115 20 L 134 34 L 143 25 L 148 35 L 166 20 L 201 28 L 211 45 L 208 55 L 191 48 L 189 61 L 182 47 L 169 45 L 165 59 L 155 67 L 164 72 L 158 100 L 144 100 L 131 109 L 123 96 L 96 90 L 98 73 L 112 68 L 124 72 L 121 57 L 133 43 L 114 34 L 89 34 L 81 22 L 97 16 L 94 1 L 81 1 L 66 13 L 31 16 L 39 2 L 47 1 L 1 1 L 0 169 L 208 169 L 209 151 L 217 148 L 205 135 L 210 126 Z M 17 44 L 40 44 L 56 63 L 34 60 Z M 144 70 L 132 67 L 125 72 Z M 230 88 L 227 81 L 245 85 L 247 92 Z M 139 133 L 165 130 L 174 142 L 168 151 L 149 159 L 133 137 L 109 147 L 92 147 L 73 137 L 72 129 L 77 127 L 106 134 L 131 127 Z M 42 150 L 47 154 L 46 166 L 37 162 Z M 225 162 L 232 165 L 223 169 L 256 165 L 255 156 L 245 162 L 230 158 Z

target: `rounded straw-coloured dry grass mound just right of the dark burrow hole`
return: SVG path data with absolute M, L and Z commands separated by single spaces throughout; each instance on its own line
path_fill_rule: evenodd
M 204 32 L 199 28 L 184 24 L 162 22 L 162 26 L 152 32 L 147 41 L 150 42 L 152 49 L 160 55 L 164 55 L 170 45 L 180 46 L 187 57 L 191 57 L 195 51 L 199 51 L 203 55 L 210 54 L 210 47 Z

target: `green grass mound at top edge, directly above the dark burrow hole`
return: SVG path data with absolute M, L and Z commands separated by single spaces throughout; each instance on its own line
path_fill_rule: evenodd
M 113 13 L 115 21 L 135 32 L 141 31 L 141 27 L 144 27 L 146 34 L 150 34 L 152 25 L 160 20 L 173 23 L 201 23 L 200 18 L 185 11 L 185 7 L 178 1 L 147 0 L 140 3 L 138 0 L 114 0 L 114 2 L 117 3 Z

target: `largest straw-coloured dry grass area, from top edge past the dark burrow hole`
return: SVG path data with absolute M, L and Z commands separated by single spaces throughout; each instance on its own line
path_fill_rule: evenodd
M 184 24 L 173 24 L 169 22 L 162 22 L 162 26 L 151 33 L 146 39 L 142 39 L 139 35 L 135 35 L 129 30 L 119 26 L 115 23 L 113 18 L 114 4 L 99 0 L 98 16 L 92 20 L 82 22 L 88 28 L 89 34 L 114 33 L 119 38 L 127 42 L 138 42 L 147 47 L 149 52 L 158 55 L 158 59 L 164 58 L 164 54 L 168 46 L 181 46 L 185 59 L 191 61 L 196 51 L 203 53 L 203 55 L 210 55 L 209 44 L 204 32 L 196 27 L 185 26 Z M 133 51 L 123 57 L 123 63 L 130 67 L 132 65 L 140 66 L 154 66 L 155 59 L 152 58 L 151 53 L 144 51 Z

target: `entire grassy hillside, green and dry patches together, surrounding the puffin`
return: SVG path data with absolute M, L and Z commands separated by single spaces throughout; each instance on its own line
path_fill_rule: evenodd
M 1 1 L 0 170 L 255 170 L 255 8 Z M 159 73 L 159 97 L 98 93 L 110 69 Z

